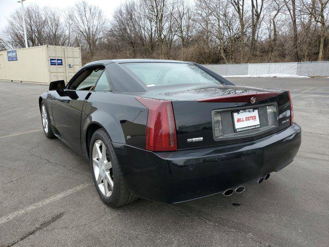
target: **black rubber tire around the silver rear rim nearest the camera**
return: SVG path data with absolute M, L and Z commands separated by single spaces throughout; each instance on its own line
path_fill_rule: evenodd
M 99 188 L 99 185 L 96 180 L 96 175 L 94 172 L 93 166 L 93 148 L 94 144 L 101 140 L 103 144 L 106 146 L 106 158 L 107 161 L 111 161 L 112 163 L 112 173 L 113 174 L 113 189 L 112 193 L 109 197 L 106 197 Z M 118 163 L 118 159 L 115 155 L 113 146 L 111 144 L 111 138 L 104 129 L 98 129 L 92 136 L 90 140 L 90 147 L 89 147 L 89 160 L 90 160 L 90 168 L 93 174 L 93 180 L 98 192 L 98 195 L 102 199 L 102 201 L 110 207 L 120 207 L 126 204 L 130 204 L 137 199 L 130 190 L 127 188 L 124 180 L 123 175 L 120 169 L 120 165 Z M 104 183 L 104 181 L 102 182 Z M 107 183 L 107 182 L 105 182 Z

